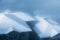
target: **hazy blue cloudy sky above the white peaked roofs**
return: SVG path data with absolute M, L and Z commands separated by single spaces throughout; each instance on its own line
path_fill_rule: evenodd
M 0 12 L 5 10 L 47 16 L 60 22 L 60 0 L 0 0 Z

